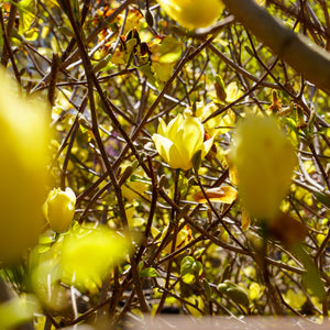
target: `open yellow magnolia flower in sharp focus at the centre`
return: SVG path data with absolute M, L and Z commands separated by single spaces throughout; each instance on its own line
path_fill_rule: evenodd
M 153 140 L 160 155 L 172 168 L 187 170 L 193 167 L 194 154 L 201 151 L 204 157 L 211 148 L 213 138 L 204 142 L 204 127 L 194 117 L 178 114 L 168 125 L 160 119 L 160 125 Z

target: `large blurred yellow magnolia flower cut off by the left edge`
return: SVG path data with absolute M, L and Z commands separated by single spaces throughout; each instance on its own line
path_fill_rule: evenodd
M 0 261 L 14 261 L 37 243 L 46 185 L 45 106 L 23 98 L 0 68 Z

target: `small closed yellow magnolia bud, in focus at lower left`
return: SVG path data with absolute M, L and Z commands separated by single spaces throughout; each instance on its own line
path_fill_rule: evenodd
M 44 215 L 51 228 L 58 233 L 67 231 L 75 216 L 76 195 L 72 188 L 55 188 L 44 204 Z

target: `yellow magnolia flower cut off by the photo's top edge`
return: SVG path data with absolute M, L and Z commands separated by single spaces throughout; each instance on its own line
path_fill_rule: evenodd
M 187 29 L 207 28 L 224 9 L 220 0 L 157 0 L 165 12 Z

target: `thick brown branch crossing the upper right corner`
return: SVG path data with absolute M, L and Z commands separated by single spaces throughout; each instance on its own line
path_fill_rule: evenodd
M 330 54 L 280 24 L 253 0 L 222 0 L 248 30 L 288 65 L 330 95 Z

